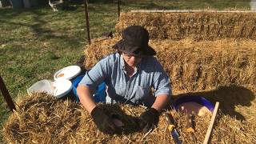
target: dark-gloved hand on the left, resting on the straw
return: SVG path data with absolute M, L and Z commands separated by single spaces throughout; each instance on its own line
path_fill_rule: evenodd
M 101 130 L 103 133 L 114 134 L 117 130 L 117 127 L 114 125 L 114 122 L 112 122 L 110 116 L 98 108 L 98 106 L 90 112 L 90 115 L 94 119 L 94 123 L 98 127 L 98 130 Z

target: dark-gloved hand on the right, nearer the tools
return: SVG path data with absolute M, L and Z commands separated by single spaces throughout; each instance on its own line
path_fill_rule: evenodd
M 140 115 L 140 128 L 143 133 L 148 132 L 149 130 L 153 129 L 154 126 L 158 124 L 159 121 L 159 112 L 154 108 L 147 109 Z

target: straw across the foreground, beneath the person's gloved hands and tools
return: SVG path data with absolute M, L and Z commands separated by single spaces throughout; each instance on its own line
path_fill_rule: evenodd
M 10 115 L 4 125 L 3 137 L 9 143 L 173 143 L 162 116 L 158 128 L 150 134 L 136 132 L 133 118 L 144 111 L 143 107 L 101 105 L 110 113 L 122 116 L 127 134 L 109 136 L 99 132 L 90 114 L 78 103 L 54 99 L 46 94 L 26 96 L 18 102 L 19 109 Z M 170 112 L 170 111 L 169 111 Z M 193 143 L 186 134 L 186 115 L 171 110 L 178 124 L 182 142 Z M 202 142 L 210 122 L 210 115 L 196 117 L 195 136 Z M 225 127 L 223 127 L 225 126 Z M 214 126 L 212 143 L 254 143 L 255 126 L 219 114 Z

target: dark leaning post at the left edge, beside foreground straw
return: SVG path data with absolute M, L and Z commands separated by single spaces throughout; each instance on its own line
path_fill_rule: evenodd
M 6 103 L 7 103 L 7 105 L 9 106 L 9 109 L 10 109 L 12 112 L 14 112 L 14 110 L 16 110 L 16 107 L 15 107 L 15 105 L 14 105 L 13 100 L 12 100 L 11 97 L 10 97 L 10 94 L 9 94 L 8 90 L 6 89 L 6 85 L 5 85 L 5 83 L 3 82 L 3 79 L 2 79 L 1 76 L 0 76 L 0 90 L 1 90 L 1 92 L 2 92 L 3 98 L 5 98 Z

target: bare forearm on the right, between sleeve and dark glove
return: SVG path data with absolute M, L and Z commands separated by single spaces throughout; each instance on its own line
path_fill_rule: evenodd
M 168 102 L 170 102 L 169 95 L 159 94 L 151 107 L 158 110 L 158 112 L 161 112 L 162 108 L 165 107 Z

